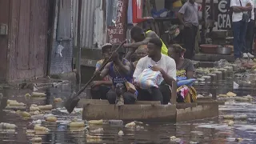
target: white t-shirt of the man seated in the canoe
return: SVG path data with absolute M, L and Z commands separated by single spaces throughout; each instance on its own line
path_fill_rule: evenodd
M 162 57 L 158 62 L 154 62 L 148 56 L 141 58 L 138 61 L 134 71 L 134 78 L 138 78 L 138 75 L 141 74 L 143 70 L 148 69 L 150 66 L 159 66 L 166 72 L 166 74 L 176 80 L 176 63 L 173 58 L 170 58 L 164 54 L 162 54 Z

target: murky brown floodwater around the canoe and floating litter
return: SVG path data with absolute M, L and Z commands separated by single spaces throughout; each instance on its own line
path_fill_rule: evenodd
M 215 86 L 217 94 L 226 94 L 228 91 L 234 91 L 238 96 L 251 94 L 254 96 L 255 88 L 250 87 L 246 90 L 233 90 L 233 78 L 220 82 Z M 199 84 L 195 87 L 202 87 Z M 213 87 L 211 87 L 213 88 Z M 28 91 L 18 90 L 2 90 L 8 99 L 30 104 L 46 105 L 53 104 L 54 98 L 65 99 L 68 97 L 75 87 L 71 84 L 58 86 L 58 88 L 46 88 L 39 91 L 46 92 L 47 97 L 43 99 L 31 98 L 26 99 L 24 94 Z M 202 88 L 199 94 L 207 93 L 210 87 Z M 31 91 L 30 91 L 31 92 Z M 83 94 L 86 97 L 86 94 Z M 255 99 L 254 99 L 255 102 Z M 125 128 L 124 126 L 90 126 L 90 135 L 101 135 L 102 138 L 89 139 L 86 138 L 86 131 L 70 130 L 66 124 L 73 118 L 82 118 L 81 110 L 75 109 L 75 114 L 66 114 L 66 110 L 61 110 L 62 104 L 54 105 L 58 108 L 52 111 L 58 118 L 58 122 L 54 124 L 42 122 L 42 126 L 50 129 L 49 133 L 36 134 L 42 138 L 42 143 L 170 143 L 170 137 L 175 136 L 176 142 L 171 143 L 238 143 L 235 138 L 243 138 L 240 143 L 256 143 L 256 106 L 254 102 L 226 102 L 225 106 L 219 106 L 220 115 L 222 114 L 247 114 L 245 121 L 234 121 L 234 126 L 227 126 L 225 120 L 212 118 L 194 122 L 182 123 L 144 123 L 140 124 L 140 128 Z M 23 119 L 18 114 L 3 111 L 0 122 L 14 123 L 18 126 L 16 130 L 1 130 L 0 141 L 2 143 L 31 143 L 30 139 L 34 136 L 26 134 L 26 130 L 33 130 L 34 124 L 31 119 Z M 125 122 L 126 123 L 126 122 Z M 92 133 L 92 130 L 103 128 L 101 134 Z M 123 130 L 124 136 L 118 136 L 118 131 Z

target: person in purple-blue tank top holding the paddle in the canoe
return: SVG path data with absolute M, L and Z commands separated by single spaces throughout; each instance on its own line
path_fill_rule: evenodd
M 118 45 L 112 46 L 112 62 L 106 64 L 100 76 L 105 78 L 110 75 L 112 78 L 113 86 L 106 94 L 106 99 L 110 104 L 121 106 L 123 104 L 134 104 L 137 96 L 134 92 L 130 92 L 127 88 L 127 83 L 133 82 L 133 69 L 132 64 L 124 58 L 126 52 L 121 48 L 115 52 Z

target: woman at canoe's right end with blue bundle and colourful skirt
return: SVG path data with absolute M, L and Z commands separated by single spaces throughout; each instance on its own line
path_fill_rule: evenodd
M 174 58 L 177 70 L 177 102 L 195 102 L 197 92 L 191 86 L 194 82 L 194 65 L 190 59 L 184 58 L 186 49 L 178 44 L 172 45 L 168 50 L 168 55 Z

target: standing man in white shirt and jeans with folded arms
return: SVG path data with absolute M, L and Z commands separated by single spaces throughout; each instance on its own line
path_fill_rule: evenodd
M 252 10 L 251 0 L 231 0 L 232 7 L 232 29 L 234 35 L 234 58 L 236 63 L 242 62 L 242 50 L 246 46 L 246 29 L 248 22 L 243 18 Z M 243 62 L 242 62 L 243 63 Z

